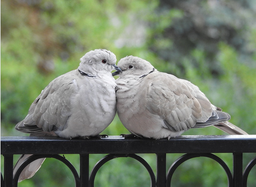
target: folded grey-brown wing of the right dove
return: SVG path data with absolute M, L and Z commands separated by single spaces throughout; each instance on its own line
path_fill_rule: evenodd
M 156 72 L 147 76 L 147 109 L 160 116 L 171 131 L 187 130 L 212 115 L 212 105 L 197 86 L 174 75 Z

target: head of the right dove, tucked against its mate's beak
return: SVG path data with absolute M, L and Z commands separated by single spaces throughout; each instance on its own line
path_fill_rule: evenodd
M 127 56 L 122 58 L 118 62 L 118 67 L 122 72 L 114 72 L 112 75 L 119 75 L 120 78 L 124 76 L 129 77 L 145 77 L 148 73 L 153 72 L 154 66 L 150 62 L 143 60 L 142 58 L 136 56 Z

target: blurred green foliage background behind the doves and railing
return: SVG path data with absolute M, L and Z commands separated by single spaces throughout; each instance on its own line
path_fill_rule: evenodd
M 2 0 L 1 136 L 14 130 L 32 101 L 57 76 L 77 69 L 89 50 L 105 48 L 117 59 L 127 55 L 150 61 L 159 71 L 199 86 L 228 112 L 230 122 L 256 134 L 256 4 L 253 0 Z M 103 132 L 128 133 L 118 116 Z M 184 134 L 225 134 L 213 128 Z M 217 154 L 232 170 L 232 154 Z M 255 154 L 244 154 L 244 165 Z M 104 155 L 91 155 L 90 168 Z M 140 155 L 155 171 L 155 155 Z M 167 169 L 180 155 L 168 154 Z M 19 156 L 15 157 L 15 160 Z M 65 155 L 79 170 L 79 157 Z M 1 156 L 1 172 L 3 157 Z M 255 167 L 248 186 L 255 186 Z M 105 164 L 95 186 L 150 186 L 147 171 L 129 158 Z M 174 186 L 227 186 L 227 177 L 208 158 L 182 164 Z M 62 163 L 46 159 L 19 186 L 75 186 Z

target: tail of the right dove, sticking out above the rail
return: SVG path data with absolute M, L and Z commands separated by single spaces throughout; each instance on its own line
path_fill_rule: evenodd
M 243 131 L 242 129 L 238 128 L 236 125 L 233 125 L 232 123 L 230 123 L 228 121 L 219 122 L 218 124 L 215 124 L 214 126 L 218 129 L 220 129 L 228 134 L 232 134 L 232 135 L 248 134 L 245 131 Z

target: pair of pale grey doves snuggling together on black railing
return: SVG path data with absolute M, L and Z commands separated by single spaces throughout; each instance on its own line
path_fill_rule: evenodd
M 210 103 L 197 86 L 156 70 L 150 62 L 127 56 L 115 65 L 105 49 L 86 53 L 77 70 L 57 77 L 29 108 L 18 131 L 32 136 L 89 138 L 100 134 L 116 112 L 137 137 L 177 137 L 191 128 L 214 125 L 229 134 L 247 134 L 228 122 L 230 115 Z M 111 74 L 112 70 L 117 70 Z M 117 80 L 113 76 L 119 75 Z M 31 155 L 22 155 L 19 166 Z M 19 182 L 32 177 L 44 158 L 23 169 Z

